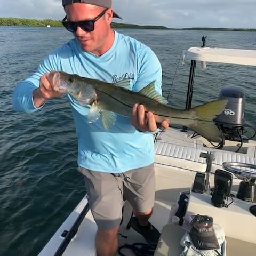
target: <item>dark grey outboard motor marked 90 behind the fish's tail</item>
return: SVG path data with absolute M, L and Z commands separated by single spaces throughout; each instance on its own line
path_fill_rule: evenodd
M 227 128 L 243 126 L 245 108 L 244 90 L 238 86 L 223 87 L 219 99 L 227 99 L 228 103 L 225 110 L 214 121 Z

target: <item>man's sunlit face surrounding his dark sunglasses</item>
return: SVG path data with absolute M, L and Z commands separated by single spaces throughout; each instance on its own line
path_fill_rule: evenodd
M 93 20 L 104 9 L 105 8 L 100 6 L 84 3 L 74 3 L 65 6 L 67 19 L 69 21 Z M 91 32 L 86 32 L 81 27 L 77 27 L 76 32 L 73 34 L 83 51 L 92 52 L 97 55 L 101 55 L 105 52 L 104 48 L 105 45 L 108 44 L 107 41 L 109 40 L 111 31 L 110 23 L 112 15 L 113 10 L 107 10 L 99 20 L 94 22 L 94 30 Z

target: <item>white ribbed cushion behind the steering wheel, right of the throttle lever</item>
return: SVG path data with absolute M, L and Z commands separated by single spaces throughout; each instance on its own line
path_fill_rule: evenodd
M 250 157 L 246 154 L 232 153 L 227 151 L 211 151 L 211 153 L 214 156 L 214 160 L 212 162 L 212 171 L 222 169 L 222 163 L 224 162 L 256 164 L 256 158 Z M 255 172 L 255 169 L 248 168 L 248 170 Z

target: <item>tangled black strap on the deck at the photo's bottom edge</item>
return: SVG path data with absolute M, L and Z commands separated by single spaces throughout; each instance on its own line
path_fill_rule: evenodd
M 143 244 L 143 243 L 134 243 L 134 244 L 125 244 L 123 246 L 120 246 L 118 248 L 118 253 L 121 256 L 125 256 L 125 254 L 123 254 L 121 252 L 121 250 L 123 249 L 130 249 L 133 251 L 133 253 L 136 256 L 150 256 L 150 255 L 154 255 L 155 250 L 156 250 L 156 246 L 155 245 L 148 245 L 148 244 Z

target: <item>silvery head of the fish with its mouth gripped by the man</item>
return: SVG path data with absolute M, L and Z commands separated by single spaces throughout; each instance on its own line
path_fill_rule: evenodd
M 73 95 L 83 105 L 91 104 L 97 99 L 93 85 L 88 79 L 57 71 L 53 75 L 53 89 L 60 93 Z

